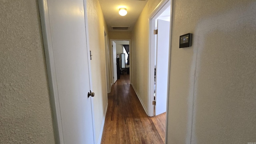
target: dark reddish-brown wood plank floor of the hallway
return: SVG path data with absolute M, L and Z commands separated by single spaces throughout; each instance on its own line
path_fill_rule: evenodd
M 112 86 L 101 144 L 164 144 L 166 113 L 148 117 L 129 75 Z

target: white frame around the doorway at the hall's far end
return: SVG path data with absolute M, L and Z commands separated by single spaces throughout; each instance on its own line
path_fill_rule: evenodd
M 132 83 L 132 45 L 131 45 L 131 39 L 110 39 L 110 66 L 111 66 L 111 84 L 114 84 L 114 80 L 113 80 L 113 76 L 114 76 L 114 72 L 113 72 L 113 48 L 112 48 L 112 42 L 113 41 L 129 41 L 129 58 L 130 58 L 130 84 Z

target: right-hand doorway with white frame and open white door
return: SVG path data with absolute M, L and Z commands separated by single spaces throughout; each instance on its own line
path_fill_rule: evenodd
M 166 112 L 170 59 L 170 13 L 170 0 L 165 0 L 150 16 L 149 116 Z

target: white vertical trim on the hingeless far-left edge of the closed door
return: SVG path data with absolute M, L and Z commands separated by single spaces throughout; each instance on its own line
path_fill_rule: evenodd
M 64 144 L 47 0 L 39 0 L 38 6 L 40 11 L 42 36 L 44 43 L 44 54 L 50 91 L 50 104 L 53 113 L 52 122 L 54 129 L 54 137 L 56 144 Z

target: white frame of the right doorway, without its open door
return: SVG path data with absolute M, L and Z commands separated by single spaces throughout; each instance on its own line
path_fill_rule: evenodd
M 158 6 L 154 9 L 152 14 L 149 16 L 149 66 L 148 66 L 148 116 L 154 116 L 154 105 L 152 105 L 152 101 L 154 101 L 154 58 L 155 58 L 155 35 L 153 34 L 153 30 L 156 28 L 156 18 L 164 12 L 164 10 L 170 6 L 171 0 L 162 0 Z M 172 15 L 171 19 L 172 19 Z M 171 25 L 170 20 L 170 25 Z M 170 27 L 171 32 L 171 27 Z M 170 44 L 169 44 L 170 45 Z M 168 66 L 168 88 L 167 93 L 169 94 L 169 75 L 170 75 L 170 46 L 169 46 L 169 66 Z M 167 103 L 168 103 L 168 96 L 167 96 Z M 168 108 L 168 104 L 167 104 Z

